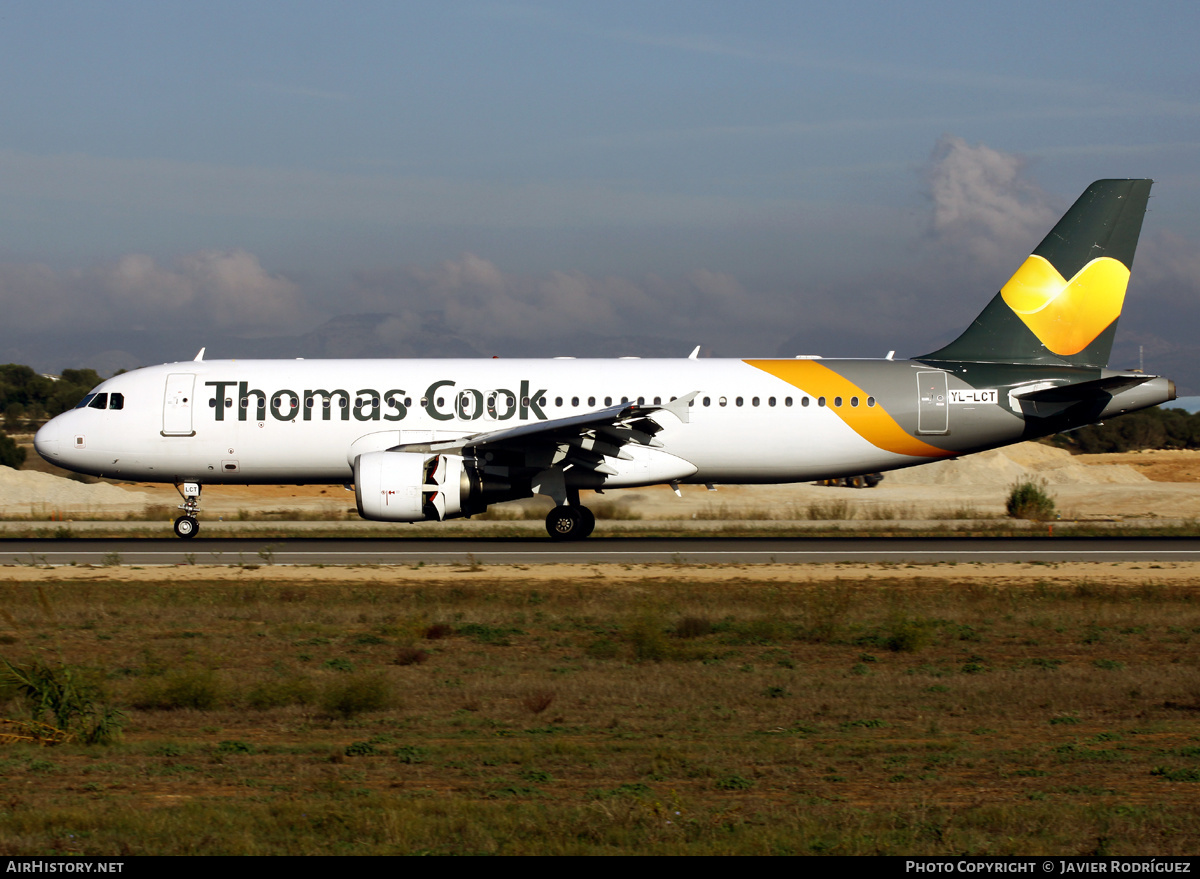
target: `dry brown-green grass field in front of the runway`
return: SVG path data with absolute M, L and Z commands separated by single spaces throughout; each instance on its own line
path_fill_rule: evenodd
M 122 730 L 0 850 L 1194 854 L 1200 586 L 1078 568 L 13 576 L 0 716 Z

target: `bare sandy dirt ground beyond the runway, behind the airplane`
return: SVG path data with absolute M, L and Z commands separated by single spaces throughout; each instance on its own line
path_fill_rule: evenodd
M 940 470 L 941 468 L 941 470 Z M 25 470 L 55 476 L 29 449 Z M 584 492 L 584 503 L 607 508 L 601 519 L 737 520 L 814 519 L 816 508 L 830 519 L 930 520 L 1003 516 L 1014 478 L 1042 478 L 1066 520 L 1188 520 L 1200 519 L 1200 452 L 1134 452 L 1079 455 L 1037 443 L 983 453 L 958 461 L 896 471 L 875 489 L 840 489 L 812 484 L 719 485 L 716 491 L 684 485 L 683 497 L 670 488 L 623 489 L 602 496 Z M 131 503 L 82 502 L 59 509 L 59 518 L 115 518 L 150 509 L 167 520 L 176 515 L 180 497 L 170 485 L 119 484 Z M 2 485 L 0 485 L 2 489 Z M 44 504 L 42 504 L 44 506 Z M 354 515 L 352 491 L 340 485 L 211 485 L 204 490 L 202 518 L 230 520 L 271 513 L 281 520 L 344 519 Z M 493 507 L 500 518 L 538 519 L 550 509 L 546 498 L 529 498 Z M 6 504 L 0 491 L 0 515 L 30 515 L 37 498 Z M 540 510 L 540 512 L 539 512 Z M 42 510 L 44 512 L 44 510 Z M 294 516 L 289 513 L 294 512 Z

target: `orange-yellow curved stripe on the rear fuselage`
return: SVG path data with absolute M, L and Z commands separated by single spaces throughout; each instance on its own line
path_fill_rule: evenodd
M 866 397 L 870 395 L 865 390 L 815 360 L 745 360 L 744 363 L 781 378 L 810 396 L 826 397 L 829 411 L 876 448 L 913 458 L 949 458 L 955 454 L 912 436 L 896 424 L 878 400 L 875 406 L 868 406 Z M 916 395 L 914 384 L 913 399 Z M 842 399 L 840 407 L 833 406 L 836 396 Z M 850 405 L 851 397 L 854 396 L 859 399 L 858 406 Z

